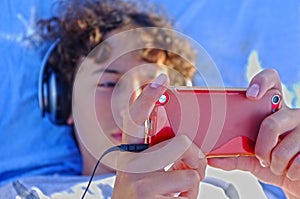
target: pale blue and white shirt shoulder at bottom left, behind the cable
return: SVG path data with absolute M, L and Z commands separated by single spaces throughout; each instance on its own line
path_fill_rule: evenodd
M 0 198 L 21 198 L 21 191 L 35 193 L 39 198 L 80 198 L 89 178 L 89 176 L 34 176 L 22 178 L 1 186 Z M 93 185 L 89 187 L 85 198 L 111 198 L 114 181 L 115 174 L 95 176 Z M 25 190 L 21 190 L 20 186 L 25 187 Z M 19 196 L 17 196 L 18 193 Z

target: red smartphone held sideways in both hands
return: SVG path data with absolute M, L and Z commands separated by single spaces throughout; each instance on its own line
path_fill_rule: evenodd
M 281 93 L 246 98 L 246 89 L 169 87 L 148 118 L 145 142 L 187 135 L 208 158 L 254 155 L 261 122 L 279 110 Z

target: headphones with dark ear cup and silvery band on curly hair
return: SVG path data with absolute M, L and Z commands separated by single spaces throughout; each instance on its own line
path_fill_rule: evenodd
M 71 114 L 71 89 L 65 77 L 50 63 L 49 57 L 57 48 L 60 39 L 55 40 L 47 50 L 39 74 L 38 98 L 42 117 L 56 125 L 67 125 Z

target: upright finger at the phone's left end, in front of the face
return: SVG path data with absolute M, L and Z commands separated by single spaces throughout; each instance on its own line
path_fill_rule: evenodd
M 144 123 L 149 117 L 155 102 L 169 85 L 166 74 L 160 74 L 152 83 L 147 85 L 138 98 L 131 104 L 123 116 L 123 143 L 142 143 L 145 137 Z

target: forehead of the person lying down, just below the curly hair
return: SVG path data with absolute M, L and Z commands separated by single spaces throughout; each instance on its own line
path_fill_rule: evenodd
M 151 34 L 147 30 L 130 25 L 112 30 L 103 35 L 104 41 L 94 48 L 89 57 L 93 58 L 99 64 L 99 67 L 109 65 L 110 68 L 117 67 L 119 70 L 125 71 L 135 65 L 147 63 L 142 58 L 143 50 L 141 49 L 148 48 L 149 43 L 153 43 L 155 38 L 153 38 L 153 35 L 150 36 Z

